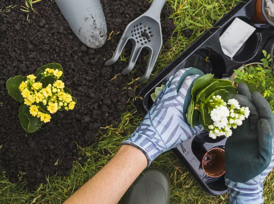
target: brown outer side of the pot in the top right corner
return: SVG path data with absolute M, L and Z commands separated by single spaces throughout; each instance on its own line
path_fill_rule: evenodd
M 266 17 L 266 14 L 264 11 L 264 5 L 265 5 L 265 0 L 257 0 L 256 1 L 255 15 L 252 16 L 251 20 L 254 23 L 264 23 L 264 24 L 269 24 L 269 25 L 274 26 L 274 23 Z

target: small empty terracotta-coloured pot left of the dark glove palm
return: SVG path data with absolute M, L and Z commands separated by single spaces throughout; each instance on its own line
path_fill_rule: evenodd
M 203 171 L 210 177 L 220 177 L 225 173 L 224 150 L 213 148 L 209 150 L 202 160 Z

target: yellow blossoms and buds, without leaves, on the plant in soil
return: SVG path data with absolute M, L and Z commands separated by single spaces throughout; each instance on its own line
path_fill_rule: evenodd
M 46 68 L 44 76 L 47 74 L 53 75 L 56 79 L 62 76 L 62 71 L 58 69 Z M 44 113 L 44 110 L 40 109 L 38 103 L 42 102 L 46 105 L 47 110 L 54 114 L 59 109 L 61 110 L 73 110 L 76 102 L 73 101 L 72 96 L 64 91 L 65 84 L 62 80 L 56 80 L 54 84 L 48 84 L 43 88 L 41 82 L 35 82 L 36 77 L 32 75 L 27 76 L 26 81 L 22 81 L 19 85 L 19 90 L 24 97 L 24 104 L 30 106 L 30 114 L 40 118 L 41 121 L 47 123 L 50 122 L 50 114 Z M 36 104 L 35 104 L 36 103 Z

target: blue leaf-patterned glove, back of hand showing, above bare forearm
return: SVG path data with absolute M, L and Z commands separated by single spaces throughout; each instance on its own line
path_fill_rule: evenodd
M 140 126 L 122 145 L 141 150 L 149 166 L 158 155 L 195 135 L 202 126 L 188 125 L 186 113 L 193 83 L 203 75 L 198 69 L 188 68 L 170 77 Z

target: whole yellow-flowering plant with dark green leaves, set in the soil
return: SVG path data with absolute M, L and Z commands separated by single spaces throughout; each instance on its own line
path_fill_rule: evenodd
M 19 118 L 27 132 L 35 132 L 42 124 L 50 122 L 50 114 L 74 109 L 77 100 L 65 87 L 63 76 L 62 66 L 50 63 L 34 75 L 15 76 L 7 81 L 10 96 L 24 102 L 19 108 Z

